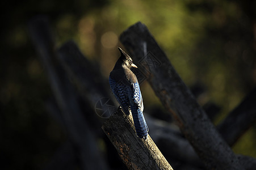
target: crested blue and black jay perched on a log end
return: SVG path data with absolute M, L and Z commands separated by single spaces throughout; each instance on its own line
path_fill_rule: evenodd
M 120 47 L 118 49 L 121 56 L 110 73 L 110 88 L 124 113 L 129 115 L 131 110 L 137 136 L 146 139 L 149 129 L 143 116 L 144 105 L 140 85 L 131 70 L 131 67 L 137 68 L 137 66 L 123 49 Z

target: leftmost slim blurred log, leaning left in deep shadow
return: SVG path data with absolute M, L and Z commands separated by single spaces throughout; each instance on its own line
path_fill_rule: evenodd
M 79 152 L 82 169 L 108 169 L 106 162 L 96 146 L 96 139 L 84 120 L 77 102 L 77 96 L 65 70 L 57 61 L 56 45 L 53 40 L 48 20 L 37 17 L 31 20 L 29 31 L 36 50 L 48 73 L 54 97 L 62 111 L 64 123 L 70 140 Z M 96 160 L 96 164 L 95 164 Z

